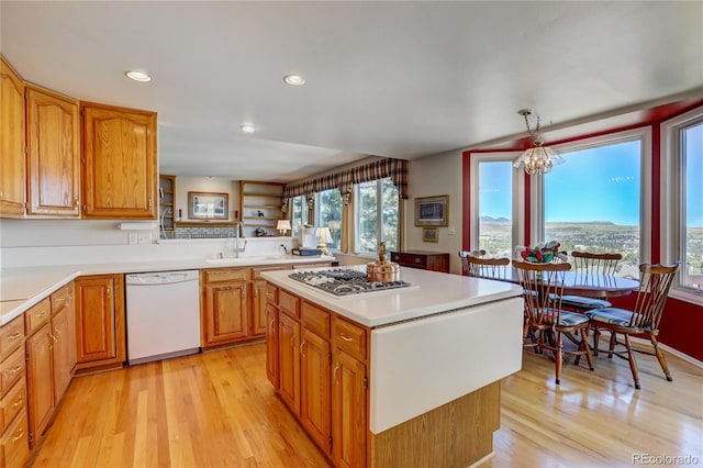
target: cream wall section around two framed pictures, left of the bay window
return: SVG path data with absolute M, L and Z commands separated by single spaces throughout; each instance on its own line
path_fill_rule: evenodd
M 405 201 L 405 249 L 448 252 L 450 271 L 461 272 L 462 152 L 454 151 L 413 159 L 409 165 L 409 199 Z M 422 227 L 415 226 L 415 198 L 449 196 L 449 226 L 438 227 L 439 242 L 423 242 Z M 455 234 L 449 234 L 454 230 Z

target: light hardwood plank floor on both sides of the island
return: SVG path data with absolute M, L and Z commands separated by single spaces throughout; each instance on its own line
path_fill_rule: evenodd
M 326 467 L 266 379 L 263 344 L 75 378 L 33 467 Z M 667 355 L 596 369 L 525 352 L 503 382 L 488 467 L 636 466 L 634 454 L 703 465 L 703 371 Z M 433 467 L 435 468 L 435 467 Z

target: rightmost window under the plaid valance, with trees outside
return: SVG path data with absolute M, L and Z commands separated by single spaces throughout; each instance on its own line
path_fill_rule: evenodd
M 354 187 L 356 253 L 378 252 L 379 242 L 388 252 L 398 249 L 398 198 L 390 178 Z

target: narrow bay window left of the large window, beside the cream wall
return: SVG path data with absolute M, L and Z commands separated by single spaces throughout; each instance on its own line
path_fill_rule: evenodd
M 524 241 L 524 177 L 515 153 L 471 155 L 471 246 L 498 257 L 513 256 Z

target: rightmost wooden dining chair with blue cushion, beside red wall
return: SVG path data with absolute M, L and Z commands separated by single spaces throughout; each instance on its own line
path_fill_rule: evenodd
M 661 370 L 668 381 L 672 381 L 667 359 L 663 357 L 657 335 L 659 334 L 659 322 L 663 313 L 663 305 L 667 301 L 669 288 L 673 278 L 679 271 L 680 263 L 671 266 L 643 264 L 639 266 L 639 291 L 635 308 L 629 311 L 620 308 L 603 308 L 591 310 L 585 315 L 591 320 L 593 326 L 593 350 L 607 353 L 607 357 L 613 355 L 627 359 L 629 369 L 633 372 L 635 388 L 640 389 L 637 363 L 633 352 L 657 356 Z M 611 332 L 610 346 L 607 349 L 599 349 L 599 338 L 602 330 Z M 617 339 L 617 335 L 623 335 L 623 341 Z M 631 335 L 646 335 L 651 342 L 654 350 L 635 349 L 631 343 Z M 616 347 L 620 346 L 618 349 Z M 623 349 L 624 346 L 624 349 Z

